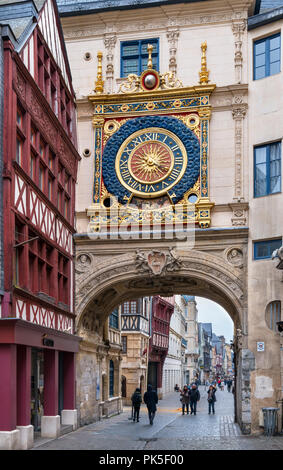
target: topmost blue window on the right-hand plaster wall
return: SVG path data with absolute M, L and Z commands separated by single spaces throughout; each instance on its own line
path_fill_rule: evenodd
M 254 80 L 280 72 L 280 33 L 254 42 Z

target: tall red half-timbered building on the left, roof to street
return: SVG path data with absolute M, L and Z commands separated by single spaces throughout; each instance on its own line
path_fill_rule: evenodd
M 0 4 L 4 299 L 0 448 L 76 427 L 74 91 L 54 0 Z

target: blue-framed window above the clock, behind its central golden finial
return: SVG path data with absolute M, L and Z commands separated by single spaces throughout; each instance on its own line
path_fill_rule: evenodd
M 127 41 L 121 43 L 121 77 L 127 77 L 129 73 L 141 75 L 147 68 L 147 46 L 153 46 L 152 65 L 159 70 L 159 40 L 143 39 L 140 41 Z

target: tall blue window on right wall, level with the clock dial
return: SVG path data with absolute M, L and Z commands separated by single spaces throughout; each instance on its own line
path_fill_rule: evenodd
M 254 197 L 281 191 L 281 142 L 254 149 Z

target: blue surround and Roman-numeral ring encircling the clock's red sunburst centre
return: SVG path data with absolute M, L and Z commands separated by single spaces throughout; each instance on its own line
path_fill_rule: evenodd
M 152 139 L 152 136 L 157 136 L 157 140 Z M 151 184 L 149 181 L 144 184 L 138 181 L 140 189 L 137 189 L 137 180 L 133 179 L 131 168 L 129 168 L 135 155 L 134 151 L 141 144 L 145 145 L 147 142 L 151 145 L 153 142 L 161 144 L 164 140 L 165 145 L 166 142 L 168 144 L 168 153 L 171 151 L 172 158 L 167 178 L 161 178 L 161 181 L 158 178 L 155 182 L 151 181 Z M 122 166 L 122 171 L 119 164 Z M 115 194 L 121 204 L 129 200 L 131 193 L 151 198 L 168 193 L 172 202 L 177 203 L 184 196 L 186 189 L 197 181 L 199 168 L 200 145 L 197 137 L 181 121 L 168 116 L 138 117 L 127 121 L 107 141 L 102 158 L 102 176 L 105 187 Z M 132 176 L 132 185 L 125 184 L 122 177 L 123 171 L 128 181 Z M 160 188 L 157 188 L 157 185 Z

